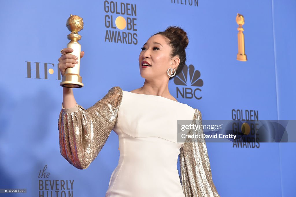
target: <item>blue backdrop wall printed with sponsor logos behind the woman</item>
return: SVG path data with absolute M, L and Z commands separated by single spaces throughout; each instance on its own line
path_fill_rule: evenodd
M 57 63 L 60 49 L 69 42 L 65 24 L 70 14 L 84 22 L 79 32 L 85 51 L 80 69 L 84 87 L 74 89 L 84 108 L 113 86 L 126 91 L 141 87 L 142 45 L 154 33 L 176 25 L 189 37 L 186 65 L 193 65 L 203 82 L 194 86 L 188 79 L 177 85 L 172 80 L 170 93 L 179 102 L 198 108 L 205 120 L 231 120 L 233 109 L 242 114 L 254 110 L 259 120 L 295 120 L 295 9 L 293 0 L 1 1 L 0 188 L 27 189 L 26 194 L 6 196 L 39 196 L 45 191 L 39 181 L 74 180 L 74 196 L 104 196 L 118 164 L 114 132 L 85 170 L 60 154 L 62 87 Z M 236 59 L 237 13 L 244 16 L 247 61 Z M 118 16 L 127 21 L 123 30 L 115 24 Z M 197 89 L 201 98 L 182 96 L 178 89 Z M 296 196 L 295 148 L 295 143 L 207 143 L 218 193 Z M 47 178 L 39 173 L 45 166 Z

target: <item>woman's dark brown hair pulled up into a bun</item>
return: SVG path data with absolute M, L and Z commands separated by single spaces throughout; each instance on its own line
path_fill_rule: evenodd
M 174 57 L 176 55 L 180 58 L 180 64 L 176 69 L 177 76 L 183 69 L 186 62 L 186 52 L 185 49 L 189 43 L 187 33 L 181 28 L 176 26 L 170 26 L 166 28 L 164 32 L 157 32 L 154 35 L 163 35 L 168 40 L 168 45 L 172 47 L 172 51 L 170 57 Z M 170 77 L 169 80 L 173 79 L 175 76 Z

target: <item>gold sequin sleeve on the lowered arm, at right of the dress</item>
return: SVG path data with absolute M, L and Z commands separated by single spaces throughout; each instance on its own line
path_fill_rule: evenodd
M 202 115 L 194 109 L 192 124 L 202 124 Z M 203 129 L 189 130 L 189 135 L 201 134 Z M 187 138 L 180 149 L 180 174 L 183 193 L 186 197 L 219 196 L 212 180 L 210 161 L 205 139 Z M 220 196 L 219 196 L 220 197 Z

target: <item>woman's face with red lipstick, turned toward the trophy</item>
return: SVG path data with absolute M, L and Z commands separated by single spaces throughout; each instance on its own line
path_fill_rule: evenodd
M 171 47 L 165 37 L 160 34 L 154 35 L 141 49 L 139 55 L 141 76 L 145 79 L 168 79 L 167 70 L 172 67 L 173 60 L 170 59 Z

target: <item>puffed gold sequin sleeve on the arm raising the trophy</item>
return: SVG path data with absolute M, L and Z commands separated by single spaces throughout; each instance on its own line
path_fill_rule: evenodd
M 76 103 L 59 114 L 59 147 L 62 156 L 74 167 L 86 169 L 96 158 L 112 131 L 122 99 L 122 89 L 112 87 L 92 107 Z

